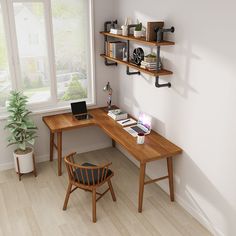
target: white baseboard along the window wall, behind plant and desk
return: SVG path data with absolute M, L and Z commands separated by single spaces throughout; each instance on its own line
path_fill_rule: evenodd
M 96 143 L 95 145 L 80 147 L 79 149 L 76 149 L 76 148 L 73 149 L 73 150 L 64 149 L 63 153 L 70 153 L 72 151 L 77 152 L 77 153 L 84 153 L 84 152 L 90 152 L 90 151 L 94 151 L 94 150 L 98 150 L 98 149 L 107 148 L 107 147 L 110 147 L 110 146 L 111 146 L 110 142 Z M 55 150 L 54 150 L 53 158 L 57 159 L 57 152 Z M 11 162 L 0 164 L 0 171 L 9 170 L 9 169 L 14 168 L 13 156 L 12 156 L 11 159 L 12 159 Z M 49 154 L 35 156 L 35 161 L 36 161 L 36 163 L 49 161 Z

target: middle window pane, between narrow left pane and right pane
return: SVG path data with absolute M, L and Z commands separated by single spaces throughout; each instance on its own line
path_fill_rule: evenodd
M 50 98 L 50 76 L 45 33 L 44 5 L 14 3 L 21 82 L 30 102 Z

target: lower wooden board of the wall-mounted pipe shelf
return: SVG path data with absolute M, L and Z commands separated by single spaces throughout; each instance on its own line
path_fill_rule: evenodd
M 132 64 L 130 62 L 127 62 L 127 61 L 122 61 L 122 60 L 119 60 L 117 58 L 113 58 L 113 57 L 109 57 L 109 56 L 106 56 L 105 54 L 100 54 L 101 57 L 103 58 L 106 58 L 110 61 L 113 61 L 113 62 L 116 62 L 118 64 L 122 64 L 122 65 L 125 65 L 125 66 L 128 66 L 130 68 L 133 68 L 135 70 L 138 70 L 140 72 L 143 72 L 143 73 L 146 73 L 146 74 L 149 74 L 149 75 L 152 75 L 152 76 L 163 76 L 163 75 L 172 75 L 173 72 L 172 71 L 169 71 L 169 70 L 165 70 L 165 69 L 162 69 L 162 70 L 155 70 L 155 71 L 151 71 L 151 70 L 147 70 L 147 69 L 144 69 L 144 68 L 141 68 L 140 66 L 137 66 L 135 64 Z

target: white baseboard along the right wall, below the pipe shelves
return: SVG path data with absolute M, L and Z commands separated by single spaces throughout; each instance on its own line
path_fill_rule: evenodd
M 139 167 L 139 162 L 136 161 L 136 159 L 132 158 L 132 156 L 125 150 L 123 149 L 120 145 L 116 145 L 116 148 L 122 152 L 130 161 L 132 161 L 136 166 Z M 146 175 L 151 178 L 152 174 L 149 173 L 147 170 Z M 161 189 L 166 192 L 167 194 L 168 191 L 168 186 L 167 185 L 160 185 L 156 183 L 158 186 L 161 187 Z M 203 217 L 199 212 L 196 211 L 188 202 L 186 202 L 181 196 L 178 194 L 175 194 L 175 201 L 179 203 L 191 216 L 193 216 L 200 224 L 202 224 L 205 228 L 207 228 L 214 236 L 225 236 L 217 227 L 212 225 L 205 217 Z

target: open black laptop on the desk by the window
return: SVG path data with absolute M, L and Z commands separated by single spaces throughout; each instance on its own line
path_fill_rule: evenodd
M 88 114 L 85 101 L 73 102 L 70 105 L 72 114 L 77 120 L 87 120 L 93 118 L 90 114 Z

